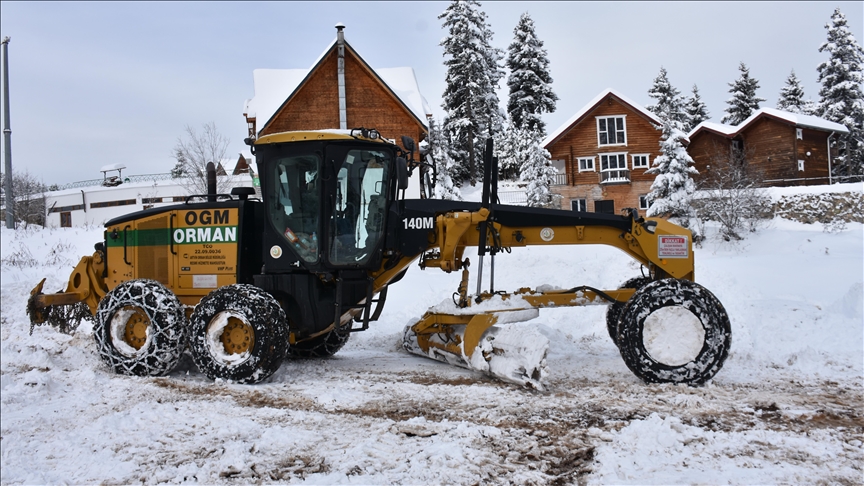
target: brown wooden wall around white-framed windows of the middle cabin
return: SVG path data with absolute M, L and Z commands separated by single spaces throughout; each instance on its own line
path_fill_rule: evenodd
M 623 116 L 626 143 L 600 145 L 598 140 L 598 117 Z M 597 211 L 598 201 L 612 201 L 613 211 L 619 214 L 623 208 L 639 208 L 639 196 L 646 195 L 654 181 L 653 174 L 646 174 L 660 155 L 660 136 L 654 123 L 629 104 L 610 94 L 589 110 L 557 140 L 546 148 L 552 160 L 564 160 L 567 184 L 553 186 L 555 194 L 562 196 L 561 208 L 571 209 L 571 201 L 584 199 L 586 210 Z M 601 156 L 625 154 L 629 182 L 601 182 Z M 634 168 L 634 155 L 647 156 L 647 166 Z M 579 170 L 580 158 L 593 158 L 594 170 Z

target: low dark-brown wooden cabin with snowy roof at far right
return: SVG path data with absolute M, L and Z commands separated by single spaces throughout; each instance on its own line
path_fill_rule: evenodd
M 703 122 L 688 138 L 697 182 L 731 160 L 746 160 L 762 186 L 830 184 L 830 139 L 846 127 L 822 118 L 762 108 L 741 124 Z

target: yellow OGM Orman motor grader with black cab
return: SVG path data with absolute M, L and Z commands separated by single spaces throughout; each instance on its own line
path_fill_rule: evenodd
M 368 329 L 408 267 L 461 271 L 453 305 L 405 329 L 406 350 L 542 388 L 548 348 L 526 349 L 524 321 L 545 307 L 608 304 L 606 324 L 627 366 L 647 382 L 700 384 L 728 354 L 729 318 L 694 280 L 690 231 L 663 219 L 498 204 L 497 158 L 484 157 L 481 202 L 406 199 L 425 171 L 375 130 L 285 132 L 247 139 L 261 197 L 211 190 L 185 203 L 108 221 L 95 253 L 63 292 L 31 294 L 34 324 L 65 325 L 69 306 L 94 319 L 117 373 L 169 373 L 188 349 L 211 379 L 257 383 L 288 358 L 331 356 Z M 429 179 L 422 178 L 428 194 Z M 620 288 L 494 290 L 496 254 L 529 245 L 610 245 L 641 263 Z M 466 248 L 476 247 L 476 292 Z M 492 259 L 482 289 L 483 259 Z M 80 315 L 80 314 L 79 314 Z M 674 342 L 658 329 L 675 327 Z M 520 330 L 521 329 L 521 330 Z M 505 332 L 506 331 L 506 332 Z M 524 335 L 527 335 L 524 334 Z M 670 350 L 671 349 L 671 350 Z M 683 350 L 683 351 L 682 351 Z M 528 351 L 528 352 L 526 352 Z M 515 363 L 515 365 L 514 365 Z

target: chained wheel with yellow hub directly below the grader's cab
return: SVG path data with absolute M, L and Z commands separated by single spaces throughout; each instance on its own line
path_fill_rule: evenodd
M 288 350 L 285 311 L 254 285 L 235 284 L 201 299 L 190 318 L 192 358 L 210 379 L 259 383 Z

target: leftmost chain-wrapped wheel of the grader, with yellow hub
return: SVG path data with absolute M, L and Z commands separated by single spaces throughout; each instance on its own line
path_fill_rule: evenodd
M 183 306 L 155 280 L 130 280 L 99 302 L 93 326 L 102 360 L 132 376 L 169 373 L 186 345 Z

